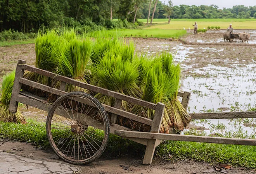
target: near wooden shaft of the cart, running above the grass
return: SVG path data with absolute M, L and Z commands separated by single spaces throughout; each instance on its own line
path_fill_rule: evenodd
M 252 145 L 256 146 L 256 140 L 253 139 L 239 139 L 239 138 L 223 138 L 211 136 L 194 136 L 194 135 L 175 135 L 165 133 L 151 133 L 138 131 L 122 131 L 116 130 L 116 135 L 136 138 L 149 138 L 158 140 L 174 140 L 185 142 L 202 142 L 202 143 L 218 143 L 218 144 L 235 144 L 235 145 Z

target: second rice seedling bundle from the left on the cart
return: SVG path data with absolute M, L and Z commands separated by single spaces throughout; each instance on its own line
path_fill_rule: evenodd
M 85 77 L 88 74 L 87 65 L 90 63 L 90 56 L 92 54 L 93 43 L 90 39 L 83 41 L 79 39 L 73 39 L 66 42 L 63 47 L 61 56 L 59 58 L 58 72 L 60 75 L 79 80 L 80 82 L 87 83 Z M 55 85 L 58 87 L 59 83 Z M 83 91 L 87 92 L 83 88 L 67 84 L 66 92 Z

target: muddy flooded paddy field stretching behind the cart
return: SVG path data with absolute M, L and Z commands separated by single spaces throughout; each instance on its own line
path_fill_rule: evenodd
M 256 34 L 254 31 L 245 32 Z M 183 39 L 204 42 L 212 38 L 215 42 L 221 37 L 221 31 L 217 31 L 187 35 Z M 180 91 L 192 93 L 189 113 L 256 110 L 256 46 L 253 44 L 196 45 L 166 39 L 133 40 L 138 53 L 147 52 L 149 56 L 159 51 L 168 51 L 176 54 L 175 61 L 180 62 L 182 67 Z M 14 70 L 19 59 L 33 65 L 34 44 L 0 47 L 0 84 L 2 76 Z M 45 121 L 47 117 L 46 112 L 32 107 L 27 109 L 22 106 L 21 110 L 27 118 Z M 255 138 L 255 125 L 256 119 L 197 120 L 192 121 L 184 132 Z

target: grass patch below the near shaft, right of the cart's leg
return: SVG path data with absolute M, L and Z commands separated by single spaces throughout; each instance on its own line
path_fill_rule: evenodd
M 166 141 L 157 148 L 157 154 L 170 161 L 192 159 L 256 168 L 256 146 Z

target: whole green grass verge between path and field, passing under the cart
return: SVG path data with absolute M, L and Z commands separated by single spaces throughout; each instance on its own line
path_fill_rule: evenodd
M 27 119 L 27 121 L 26 125 L 0 122 L 0 138 L 30 142 L 38 147 L 49 148 L 45 123 L 33 119 Z M 111 134 L 104 155 L 107 157 L 122 154 L 142 156 L 144 152 L 145 146 Z M 157 147 L 156 154 L 170 161 L 192 159 L 211 164 L 222 163 L 256 169 L 255 146 L 166 141 Z

